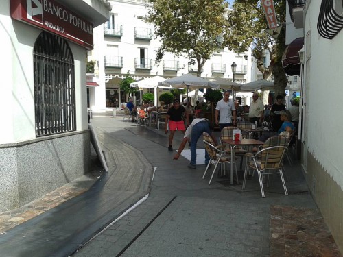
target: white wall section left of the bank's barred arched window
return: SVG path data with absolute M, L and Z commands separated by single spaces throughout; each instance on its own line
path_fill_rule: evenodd
M 1 3 L 4 5 L 5 3 Z M 36 137 L 34 121 L 33 46 L 40 29 L 0 15 L 2 46 L 0 94 L 0 143 L 13 143 Z

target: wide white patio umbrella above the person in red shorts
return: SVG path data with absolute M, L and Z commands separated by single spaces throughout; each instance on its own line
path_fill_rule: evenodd
M 219 84 L 210 82 L 207 79 L 196 77 L 190 74 L 165 79 L 165 81 L 158 83 L 159 86 L 173 86 L 174 88 L 187 88 L 187 95 L 189 98 L 189 90 L 200 88 L 219 88 Z

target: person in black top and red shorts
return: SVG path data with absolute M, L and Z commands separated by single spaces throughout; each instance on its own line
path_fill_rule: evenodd
M 171 147 L 171 143 L 173 142 L 174 134 L 176 130 L 181 130 L 183 134 L 185 134 L 185 123 L 182 120 L 182 114 L 186 114 L 186 119 L 187 119 L 187 126 L 189 125 L 189 117 L 188 114 L 186 113 L 186 109 L 183 106 L 180 106 L 180 100 L 174 99 L 174 105 L 169 108 L 167 112 L 167 119 L 165 123 L 168 124 L 169 122 L 169 146 L 168 150 L 173 151 L 173 147 Z M 165 126 L 165 134 L 168 134 L 168 127 Z

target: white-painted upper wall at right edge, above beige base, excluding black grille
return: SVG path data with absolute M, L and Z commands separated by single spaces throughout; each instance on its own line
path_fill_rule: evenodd
M 305 49 L 305 56 L 311 51 L 306 62 L 307 66 L 310 65 L 310 74 L 305 75 L 310 80 L 305 81 L 308 110 L 305 130 L 309 138 L 309 152 L 343 188 L 343 31 L 332 40 L 322 38 L 316 28 L 319 10 L 320 4 L 312 1 L 305 23 L 305 40 L 311 32 L 311 47 Z

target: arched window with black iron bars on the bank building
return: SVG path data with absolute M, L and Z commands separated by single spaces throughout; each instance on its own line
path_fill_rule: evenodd
M 76 130 L 74 58 L 66 40 L 42 32 L 34 44 L 36 136 Z

